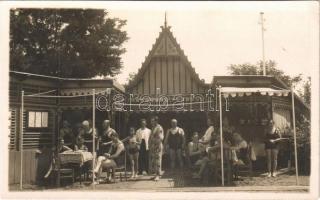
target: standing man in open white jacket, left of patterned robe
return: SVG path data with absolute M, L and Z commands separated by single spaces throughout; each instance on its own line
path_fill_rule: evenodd
M 146 173 L 149 173 L 149 138 L 150 138 L 151 130 L 147 128 L 147 120 L 141 119 L 141 128 L 139 128 L 136 132 L 138 142 L 140 143 L 140 151 L 139 151 L 139 175 L 143 174 L 145 170 Z

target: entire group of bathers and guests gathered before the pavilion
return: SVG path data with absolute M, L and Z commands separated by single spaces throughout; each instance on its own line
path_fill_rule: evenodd
M 97 161 L 94 163 L 93 176 L 99 179 L 102 170 L 117 167 L 120 155 L 124 151 L 130 160 L 131 179 L 136 179 L 144 173 L 154 175 L 153 180 L 158 181 L 161 177 L 162 157 L 169 156 L 170 168 L 176 166 L 183 168 L 187 166 L 199 166 L 199 171 L 193 174 L 194 178 L 203 176 L 208 163 L 215 162 L 212 153 L 220 150 L 220 133 L 213 126 L 212 119 L 208 118 L 208 128 L 202 137 L 198 132 L 192 133 L 191 141 L 186 143 L 184 130 L 178 126 L 176 119 L 171 120 L 171 127 L 164 132 L 159 124 L 157 116 L 151 118 L 151 129 L 147 128 L 147 120 L 140 120 L 140 128 L 135 130 L 130 127 L 129 136 L 120 140 L 118 133 L 111 128 L 111 122 L 104 120 L 100 134 L 93 130 L 89 121 L 83 121 L 76 130 L 70 128 L 67 121 L 63 121 L 60 129 L 59 152 L 62 151 L 90 151 L 95 152 Z M 74 134 L 75 133 L 75 134 Z M 235 165 L 247 162 L 248 143 L 235 131 L 233 126 L 223 126 L 223 145 L 230 148 L 232 161 Z M 270 122 L 266 134 L 265 148 L 268 161 L 268 177 L 276 176 L 277 169 L 277 141 L 281 138 L 278 129 Z M 93 151 L 93 139 L 95 139 L 95 150 Z M 97 155 L 95 155 L 97 154 Z M 216 154 L 218 155 L 218 154 Z M 220 159 L 220 158 L 218 158 Z M 272 164 L 273 163 L 273 164 Z M 272 166 L 272 167 L 271 167 Z M 108 173 L 107 180 L 111 181 L 112 173 Z

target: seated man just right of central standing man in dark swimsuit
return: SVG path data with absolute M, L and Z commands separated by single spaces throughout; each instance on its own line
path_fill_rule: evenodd
M 199 134 L 194 132 L 192 134 L 192 141 L 188 143 L 187 148 L 187 162 L 189 167 L 194 165 L 201 155 L 205 152 L 204 145 L 199 143 Z

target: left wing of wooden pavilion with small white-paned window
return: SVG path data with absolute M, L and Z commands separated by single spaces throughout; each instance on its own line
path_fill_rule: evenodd
M 24 72 L 10 72 L 9 109 L 9 183 L 20 180 L 20 115 L 21 91 L 24 91 L 23 112 L 23 182 L 40 181 L 51 160 L 42 159 L 38 150 L 56 146 L 59 126 L 63 120 L 71 124 L 92 120 L 92 89 L 97 93 L 123 94 L 124 87 L 111 78 L 72 79 L 43 76 Z M 28 96 L 48 95 L 48 98 Z M 50 98 L 63 96 L 71 98 Z M 75 97 L 78 96 L 78 97 Z M 75 97 L 75 98 L 73 98 Z M 123 131 L 120 122 L 123 113 L 96 111 L 96 127 L 101 128 L 102 120 L 112 119 L 113 127 Z M 45 157 L 45 156 L 44 156 Z

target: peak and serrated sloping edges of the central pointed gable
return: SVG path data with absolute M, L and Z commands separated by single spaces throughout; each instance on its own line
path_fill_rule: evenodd
M 159 33 L 156 42 L 152 45 L 152 49 L 149 51 L 148 56 L 145 58 L 142 63 L 141 68 L 138 70 L 138 73 L 135 77 L 128 83 L 128 88 L 136 86 L 139 80 L 143 77 L 144 72 L 148 68 L 153 57 L 161 57 L 161 56 L 178 56 L 181 58 L 181 61 L 185 63 L 185 66 L 190 70 L 191 76 L 194 80 L 203 86 L 207 86 L 204 80 L 199 78 L 199 74 L 196 73 L 195 69 L 192 67 L 191 62 L 188 60 L 188 57 L 184 54 L 184 51 L 180 47 L 176 38 L 173 36 L 170 26 L 167 26 L 166 21 L 165 25 L 161 26 L 161 32 Z M 166 47 L 162 47 L 161 45 L 166 42 Z

